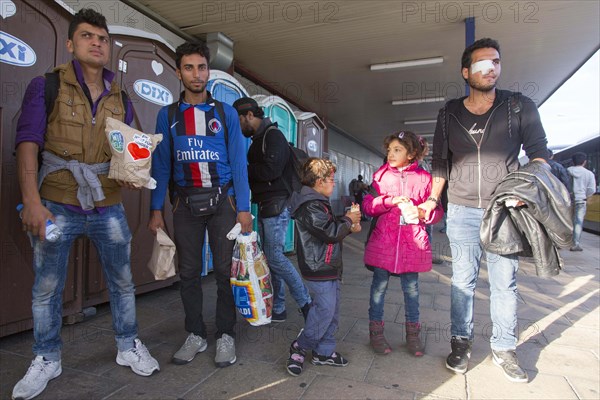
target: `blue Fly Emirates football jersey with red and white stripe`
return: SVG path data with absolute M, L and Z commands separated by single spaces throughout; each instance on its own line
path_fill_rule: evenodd
M 152 155 L 157 187 L 150 208 L 163 208 L 172 172 L 175 183 L 184 187 L 223 186 L 233 179 L 229 194 L 235 195 L 238 212 L 250 211 L 247 139 L 233 107 L 223 103 L 225 121 L 210 96 L 207 103 L 195 106 L 180 101 L 173 121 L 168 121 L 168 109 L 161 108 L 156 120 L 156 133 L 163 134 L 163 141 Z M 227 145 L 224 123 L 229 128 Z

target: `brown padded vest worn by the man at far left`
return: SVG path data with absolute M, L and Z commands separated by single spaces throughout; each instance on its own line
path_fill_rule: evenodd
M 109 162 L 111 150 L 104 128 L 106 117 L 125 120 L 121 90 L 112 82 L 110 93 L 100 100 L 95 117 L 90 102 L 77 82 L 72 63 L 54 69 L 60 77 L 58 96 L 48 116 L 44 149 L 64 158 L 85 164 Z M 121 187 L 107 175 L 98 175 L 106 198 L 94 203 L 106 207 L 121 202 Z M 40 196 L 57 203 L 80 206 L 78 185 L 71 171 L 63 169 L 44 179 Z

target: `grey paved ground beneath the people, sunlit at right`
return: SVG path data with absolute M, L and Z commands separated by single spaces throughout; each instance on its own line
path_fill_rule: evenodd
M 367 230 L 351 235 L 344 247 L 344 284 L 338 350 L 345 368 L 305 363 L 300 377 L 285 370 L 290 342 L 303 326 L 288 296 L 288 320 L 252 327 L 237 324 L 237 363 L 216 368 L 212 333 L 216 300 L 214 276 L 203 282 L 209 326 L 208 349 L 187 365 L 170 363 L 186 337 L 177 288 L 137 298 L 140 338 L 158 359 L 161 371 L 144 378 L 114 360 L 110 310 L 63 327 L 63 373 L 39 399 L 598 399 L 600 398 L 600 237 L 583 234 L 584 252 L 561 251 L 566 267 L 554 278 L 538 278 L 522 261 L 517 353 L 528 384 L 509 382 L 490 358 L 489 286 L 482 267 L 475 303 L 475 342 L 469 371 L 455 375 L 445 367 L 450 352 L 449 248 L 434 227 L 434 250 L 446 262 L 420 275 L 425 356 L 405 350 L 400 280 L 392 278 L 385 305 L 385 331 L 393 352 L 375 355 L 369 347 L 371 272 L 362 264 Z M 294 257 L 292 259 L 295 262 Z M 32 333 L 0 339 L 0 398 L 8 399 L 31 361 Z

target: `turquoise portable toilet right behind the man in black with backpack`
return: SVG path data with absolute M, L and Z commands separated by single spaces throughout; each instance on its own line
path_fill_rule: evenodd
M 278 96 L 265 96 L 258 94 L 252 96 L 260 107 L 263 108 L 265 116 L 269 117 L 271 121 L 277 122 L 279 130 L 286 137 L 288 142 L 294 146 L 298 145 L 298 119 L 294 115 L 294 111 L 290 106 Z M 294 251 L 294 221 L 290 220 L 288 229 L 285 235 L 285 245 L 283 251 L 291 252 Z

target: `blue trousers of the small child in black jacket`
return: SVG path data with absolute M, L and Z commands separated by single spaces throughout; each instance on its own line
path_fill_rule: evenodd
M 306 286 L 313 303 L 304 330 L 298 336 L 298 346 L 330 356 L 335 351 L 335 332 L 340 318 L 340 281 L 306 281 Z

